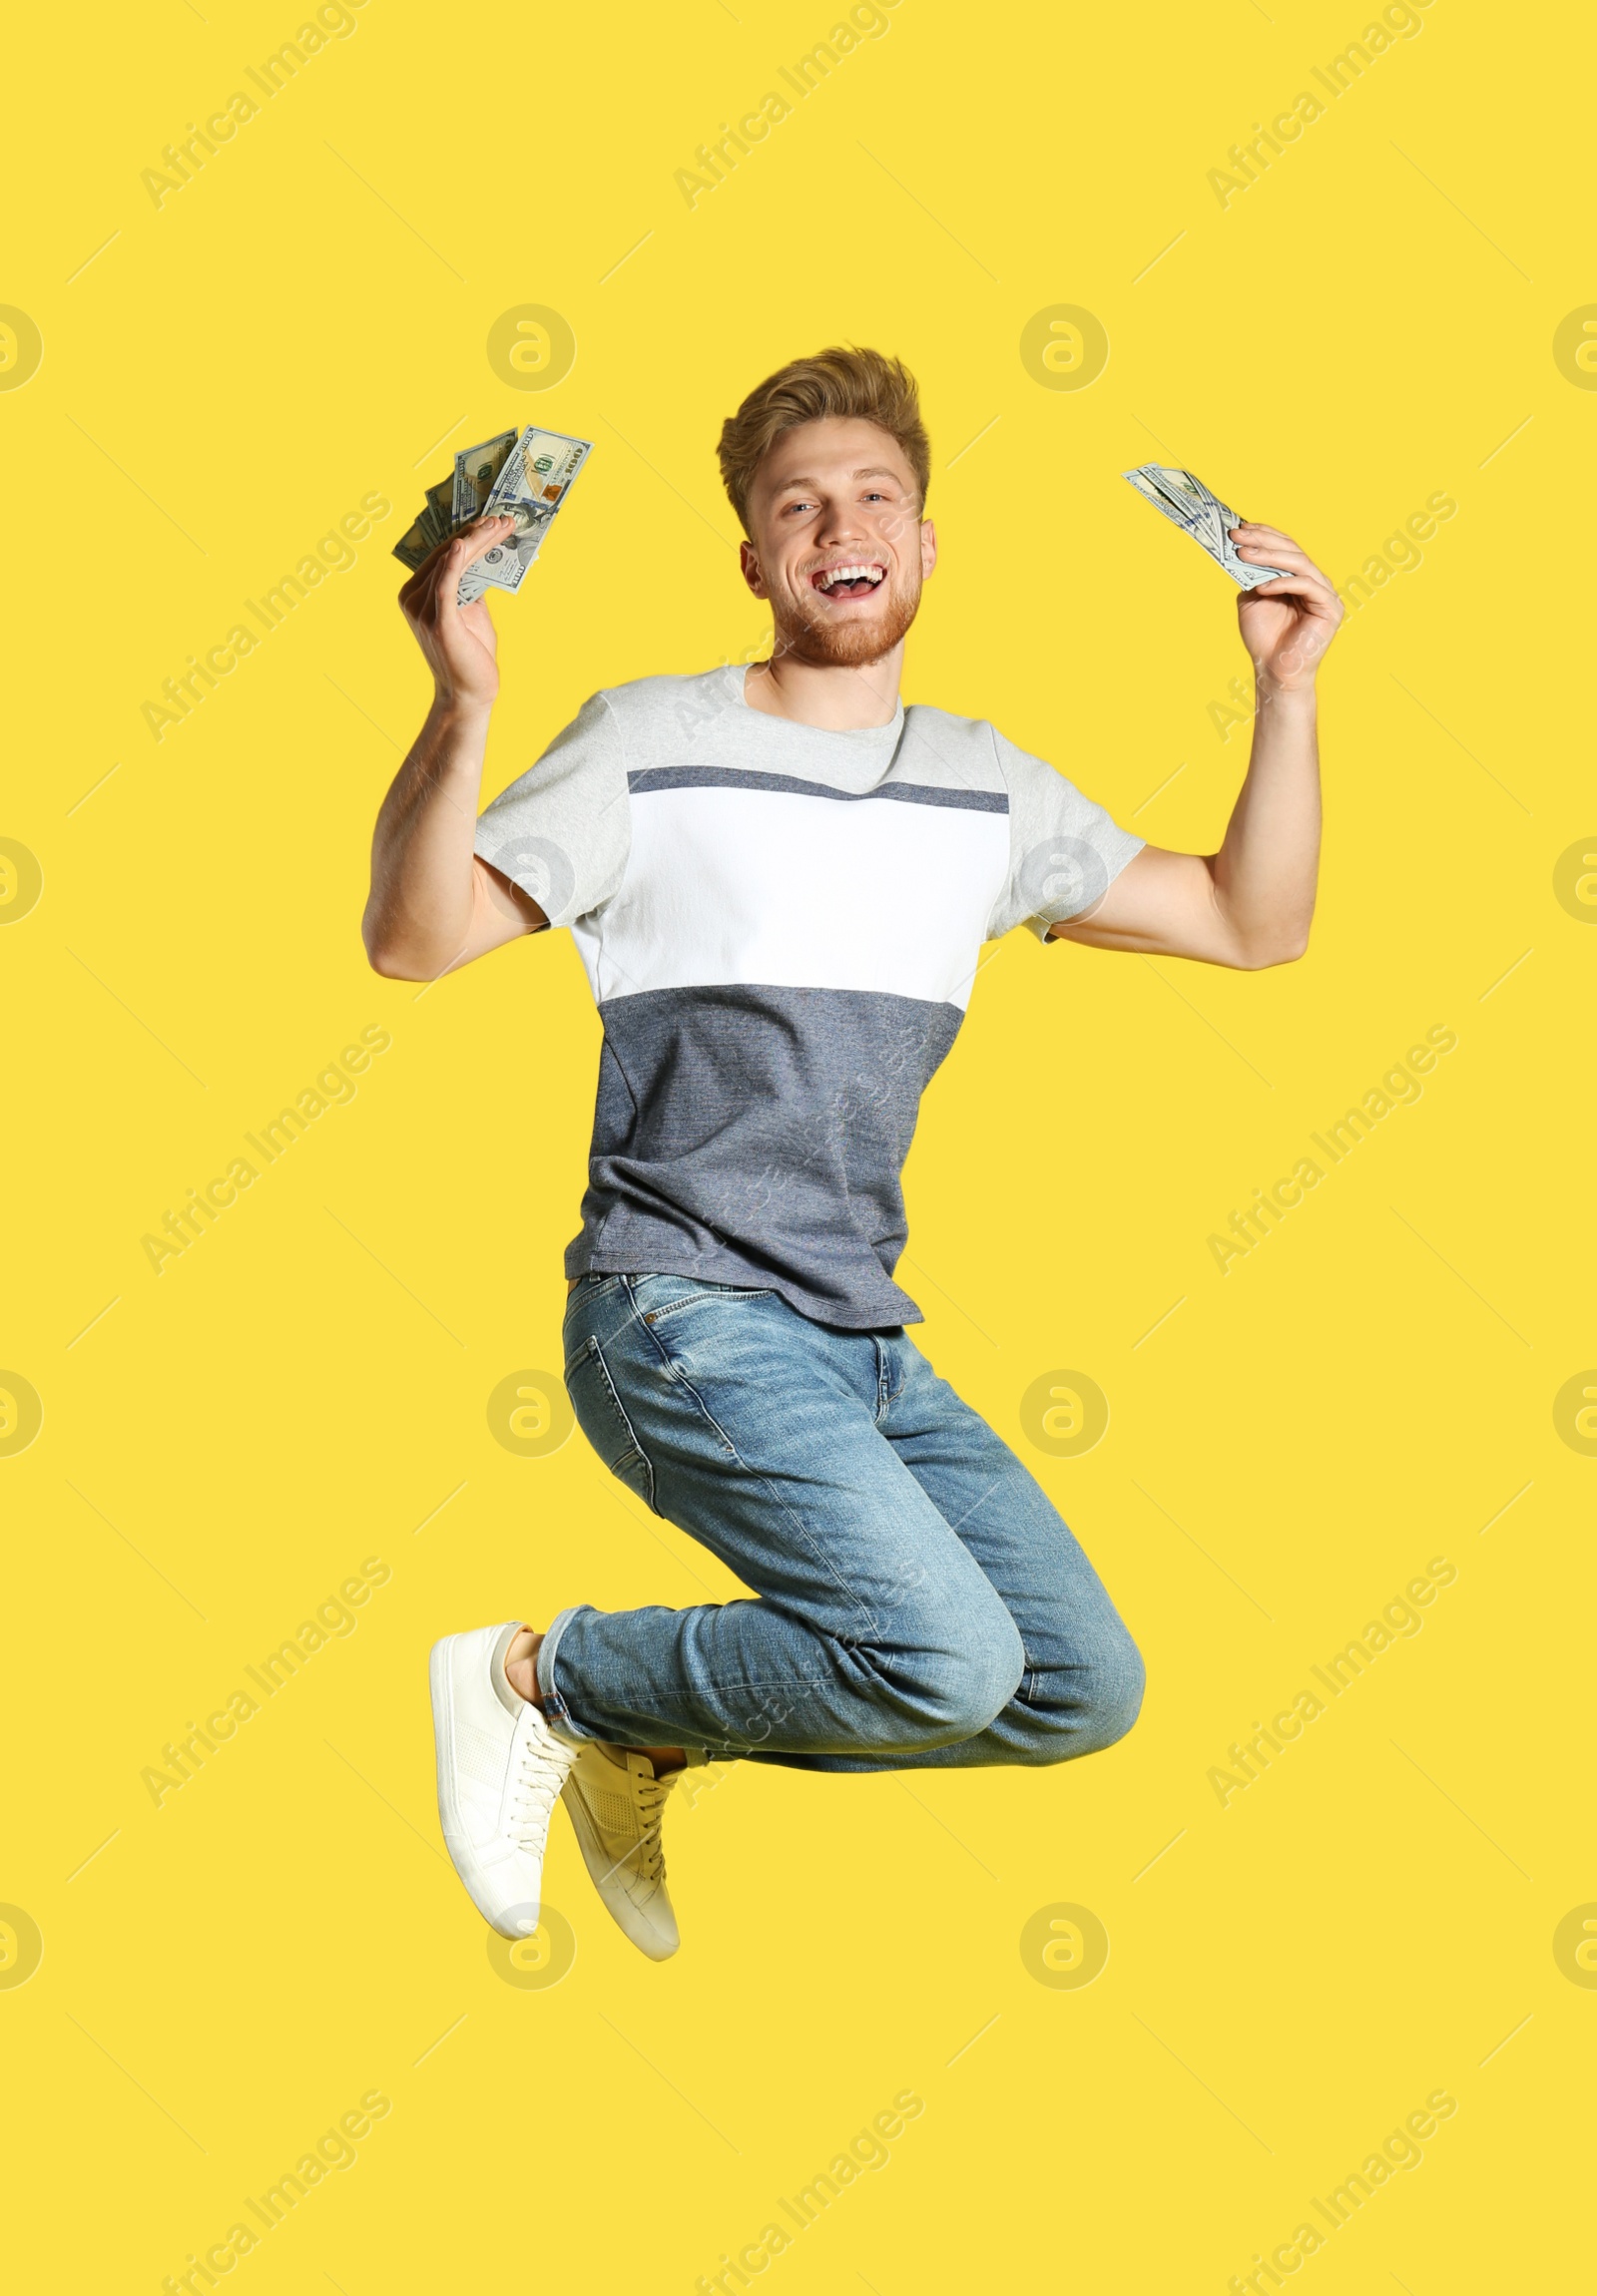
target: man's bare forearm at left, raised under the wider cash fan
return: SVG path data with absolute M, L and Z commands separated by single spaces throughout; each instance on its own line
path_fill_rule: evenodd
M 434 700 L 381 804 L 361 921 L 377 971 L 437 980 L 466 953 L 487 721 L 483 703 Z

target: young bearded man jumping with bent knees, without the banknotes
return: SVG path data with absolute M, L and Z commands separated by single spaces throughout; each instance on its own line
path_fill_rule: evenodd
M 832 349 L 722 427 L 770 661 L 609 687 L 478 820 L 494 625 L 400 592 L 437 693 L 377 820 L 365 946 L 434 980 L 570 925 L 604 1022 L 565 1384 L 604 1465 L 754 1598 L 522 1619 L 432 1651 L 439 1812 L 506 1936 L 565 1800 L 641 1952 L 676 1952 L 659 1823 L 685 1763 L 1052 1763 L 1131 1729 L 1142 1660 L 1013 1451 L 938 1378 L 894 1283 L 898 1173 L 981 944 L 1027 925 L 1209 964 L 1303 955 L 1314 673 L 1342 604 L 1273 526 L 1243 558 L 1259 709 L 1216 854 L 1160 852 L 986 721 L 898 698 L 938 563 L 910 374 Z

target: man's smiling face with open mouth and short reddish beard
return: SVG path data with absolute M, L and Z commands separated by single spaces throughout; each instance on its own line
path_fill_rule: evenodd
M 742 574 L 770 602 L 777 652 L 864 668 L 903 638 L 938 563 L 898 441 L 832 418 L 784 432 L 749 487 Z

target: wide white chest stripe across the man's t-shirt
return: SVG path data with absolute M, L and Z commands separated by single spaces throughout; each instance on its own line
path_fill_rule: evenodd
M 572 928 L 595 1003 L 765 983 L 963 1010 L 1009 870 L 1004 799 L 839 801 L 772 778 L 634 776 L 625 882 Z

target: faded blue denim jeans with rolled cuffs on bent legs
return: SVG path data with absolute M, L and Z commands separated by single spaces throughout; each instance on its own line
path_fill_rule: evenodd
M 556 1731 L 800 1770 L 1050 1763 L 1137 1717 L 1142 1660 L 1059 1513 L 903 1329 L 770 1290 L 591 1274 L 584 1435 L 758 1600 L 563 1609 Z

